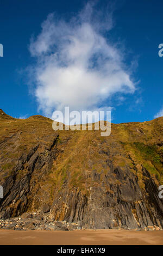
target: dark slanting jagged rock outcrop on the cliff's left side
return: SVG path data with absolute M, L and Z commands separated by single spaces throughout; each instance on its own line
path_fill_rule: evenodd
M 11 175 L 8 175 L 7 178 L 4 176 L 4 198 L 1 199 L 0 218 L 18 216 L 28 209 L 30 202 L 27 195 L 33 194 L 30 190 L 35 186 L 37 179 L 42 178 L 39 177 L 40 170 L 41 175 L 46 175 L 52 167 L 57 138 L 57 135 L 53 136 L 53 141 L 49 145 L 50 148 L 52 147 L 51 149 L 37 143 L 29 152 L 24 151 L 12 169 Z M 33 172 L 35 172 L 34 175 Z M 35 176 L 36 179 L 34 179 Z M 10 208 L 8 208 L 9 205 Z

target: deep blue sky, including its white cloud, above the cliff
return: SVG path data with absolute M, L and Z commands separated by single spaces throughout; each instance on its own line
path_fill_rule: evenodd
M 55 109 L 61 109 L 71 102 L 71 109 L 74 110 L 112 107 L 112 121 L 122 123 L 152 120 L 161 111 L 163 57 L 158 56 L 158 46 L 163 43 L 163 2 L 110 1 L 106 9 L 108 1 L 97 1 L 97 5 L 91 9 L 93 18 L 90 17 L 90 20 L 84 16 L 86 11 L 81 14 L 86 3 L 87 1 L 82 0 L 1 1 L 0 43 L 4 47 L 4 57 L 0 57 L 0 108 L 4 112 L 12 117 L 29 117 L 34 114 L 50 117 Z M 99 10 L 101 13 L 97 17 Z M 52 13 L 55 13 L 54 16 L 48 16 Z M 77 16 L 79 13 L 80 21 Z M 72 21 L 72 17 L 76 19 Z M 61 25 L 61 20 L 64 25 Z M 48 41 L 45 37 L 48 38 L 51 33 L 49 27 L 54 31 Z M 88 39 L 83 39 L 85 34 L 82 33 L 88 33 Z M 71 44 L 68 44 L 71 40 L 67 38 L 69 34 Z M 96 40 L 91 35 L 96 35 Z M 95 48 L 87 50 L 91 42 L 95 45 L 92 47 L 96 48 L 98 42 L 101 44 L 100 52 L 94 51 Z M 84 52 L 92 54 L 91 62 L 87 56 L 80 56 L 80 45 L 85 47 Z M 76 52 L 73 46 L 77 47 Z M 71 52 L 66 54 L 66 61 L 62 59 L 64 57 L 60 57 L 65 56 L 64 49 Z M 54 59 L 57 51 L 58 57 Z M 74 57 L 76 53 L 77 57 Z M 107 60 L 105 53 L 109 56 Z M 96 58 L 99 56 L 101 62 L 98 64 L 102 66 L 103 61 L 105 62 L 103 69 L 96 66 Z M 114 69 L 108 73 L 105 68 L 108 66 L 108 69 L 112 69 L 110 63 L 114 63 Z M 63 73 L 62 65 L 66 66 Z M 48 68 L 45 70 L 45 67 Z M 74 67 L 78 69 L 74 70 Z M 80 75 L 74 81 L 73 74 L 80 73 L 80 68 L 82 82 Z M 70 74 L 68 83 L 67 78 L 66 81 L 58 78 L 59 74 L 67 77 L 67 72 Z M 117 77 L 118 80 L 122 78 L 122 84 L 117 82 Z M 94 86 L 93 83 L 97 80 L 99 81 Z M 67 83 L 67 91 L 62 83 Z M 73 87 L 72 93 L 71 83 L 79 84 L 78 87 Z

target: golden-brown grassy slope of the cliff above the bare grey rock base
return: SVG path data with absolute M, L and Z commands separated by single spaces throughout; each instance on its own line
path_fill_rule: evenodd
M 77 189 L 89 198 L 92 187 L 102 187 L 105 194 L 116 197 L 115 187 L 128 186 L 136 179 L 148 196 L 148 180 L 157 187 L 163 184 L 163 117 L 111 124 L 111 135 L 101 137 L 101 131 L 94 130 L 54 131 L 52 120 L 41 115 L 15 119 L 1 110 L 0 149 L 0 183 L 9 184 L 2 203 L 8 216 L 38 210 L 44 204 L 52 206 L 65 189 L 67 193 Z M 28 188 L 22 193 L 23 204 L 20 184 L 24 179 Z M 60 220 L 67 211 L 64 202 L 62 213 L 56 215 Z

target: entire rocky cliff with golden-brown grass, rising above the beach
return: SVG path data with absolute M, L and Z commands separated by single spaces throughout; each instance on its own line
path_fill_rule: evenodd
M 163 227 L 163 118 L 112 124 L 101 137 L 1 110 L 0 152 L 0 219 L 33 211 L 79 228 Z

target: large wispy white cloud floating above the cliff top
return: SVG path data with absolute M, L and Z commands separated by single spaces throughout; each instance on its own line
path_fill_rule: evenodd
M 104 34 L 112 28 L 111 13 L 93 19 L 87 4 L 71 21 L 50 14 L 42 31 L 30 43 L 36 65 L 30 73 L 39 109 L 52 116 L 54 110 L 109 107 L 106 100 L 115 93 L 133 93 L 135 84 L 124 68 L 123 54 Z

